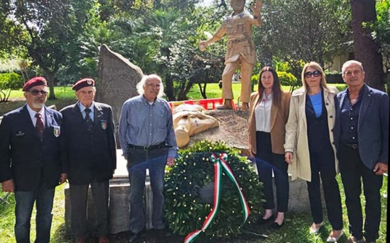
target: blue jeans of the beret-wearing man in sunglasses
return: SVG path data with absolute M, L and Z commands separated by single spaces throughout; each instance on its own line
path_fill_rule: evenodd
M 15 237 L 17 243 L 30 243 L 30 220 L 36 202 L 35 243 L 50 242 L 54 188 L 48 189 L 42 181 L 35 191 L 15 191 Z

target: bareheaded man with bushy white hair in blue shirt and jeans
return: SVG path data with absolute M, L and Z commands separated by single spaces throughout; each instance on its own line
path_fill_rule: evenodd
M 145 227 L 143 192 L 146 169 L 153 193 L 152 226 L 163 229 L 165 165 L 177 156 L 171 108 L 161 99 L 163 86 L 156 74 L 143 76 L 137 84 L 139 95 L 127 100 L 119 119 L 119 142 L 127 159 L 130 180 L 129 242 L 135 242 Z

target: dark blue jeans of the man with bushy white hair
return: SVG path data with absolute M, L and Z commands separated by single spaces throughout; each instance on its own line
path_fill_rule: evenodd
M 130 150 L 127 170 L 130 181 L 130 231 L 133 233 L 138 233 L 145 227 L 143 193 L 146 169 L 149 169 L 150 185 L 153 193 L 152 226 L 155 229 L 165 228 L 163 223 L 163 208 L 164 174 L 167 154 L 168 150 L 166 148 Z

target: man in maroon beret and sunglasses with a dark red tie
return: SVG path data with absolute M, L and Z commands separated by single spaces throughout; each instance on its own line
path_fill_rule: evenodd
M 45 106 L 47 82 L 35 77 L 23 86 L 27 104 L 8 112 L 0 124 L 0 181 L 15 193 L 15 236 L 30 242 L 36 203 L 36 243 L 50 242 L 55 187 L 66 180 L 60 161 L 61 113 Z

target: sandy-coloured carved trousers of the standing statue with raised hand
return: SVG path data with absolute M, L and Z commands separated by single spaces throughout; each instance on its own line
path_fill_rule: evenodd
M 254 65 L 248 63 L 244 57 L 240 57 L 235 62 L 226 64 L 222 73 L 222 99 L 233 100 L 232 79 L 234 72 L 241 64 L 241 95 L 240 101 L 249 103 L 251 95 L 251 78 Z

